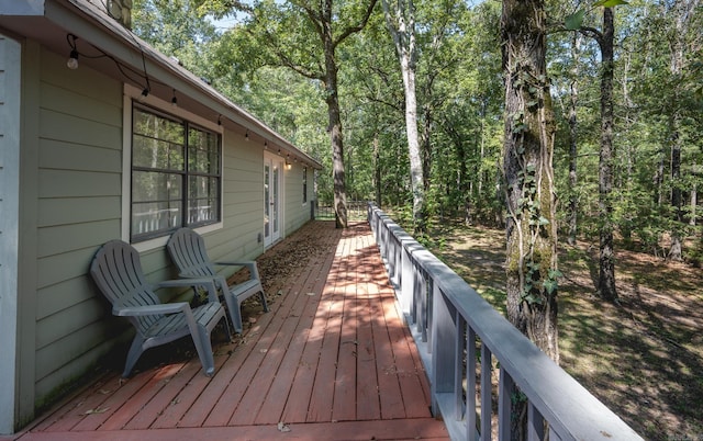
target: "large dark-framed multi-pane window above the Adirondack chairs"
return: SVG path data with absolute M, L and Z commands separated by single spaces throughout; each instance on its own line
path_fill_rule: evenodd
M 220 222 L 220 158 L 219 134 L 134 103 L 131 241 Z

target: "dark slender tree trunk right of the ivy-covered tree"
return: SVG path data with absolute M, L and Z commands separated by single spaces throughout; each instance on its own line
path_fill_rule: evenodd
M 613 70 L 614 18 L 612 8 L 603 8 L 601 43 L 601 152 L 599 159 L 600 258 L 598 295 L 617 301 L 615 255 L 613 249 Z

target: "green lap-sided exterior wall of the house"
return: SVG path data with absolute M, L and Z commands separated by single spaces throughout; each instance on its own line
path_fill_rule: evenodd
M 7 46 L 0 38 L 0 64 L 4 65 L 14 56 L 2 50 Z M 8 402 L 18 409 L 5 422 L 16 430 L 34 417 L 34 411 L 79 384 L 101 358 L 131 339 L 131 327 L 111 315 L 110 305 L 88 274 L 102 244 L 124 239 L 124 201 L 130 197 L 124 186 L 124 176 L 130 171 L 124 157 L 131 136 L 125 129 L 130 100 L 120 80 L 87 66 L 69 70 L 64 54 L 31 41 L 12 47 L 18 54 L 20 49 L 26 54 L 21 69 L 22 105 L 18 102 L 14 108 L 18 113 L 16 109 L 22 109 L 18 115 L 22 121 L 18 147 L 22 151 L 22 179 L 15 197 L 22 201 L 15 210 L 21 225 L 15 259 L 21 270 L 15 283 L 18 362 L 12 363 L 19 369 L 18 380 L 2 382 L 0 391 L 12 397 Z M 7 78 L 0 65 L 0 82 L 7 83 Z M 0 112 L 4 110 L 0 108 Z M 264 252 L 264 149 L 231 127 L 222 132 L 223 218 L 202 233 L 213 260 L 254 259 Z M 7 143 L 7 136 L 0 142 Z M 7 161 L 7 154 L 0 158 Z M 4 163 L 0 162 L 2 183 L 9 176 Z M 286 234 L 310 219 L 310 208 L 302 204 L 301 171 L 292 176 L 295 179 L 289 179 L 290 171 L 284 173 L 283 195 L 292 195 L 291 201 L 283 202 Z M 0 210 L 10 202 L 11 197 L 3 196 Z M 7 228 L 5 220 L 0 225 Z M 0 240 L 7 240 L 7 236 L 0 236 Z M 4 247 L 0 252 L 8 257 Z M 163 245 L 142 249 L 141 256 L 148 280 L 176 275 Z M 11 269 L 3 267 L 2 271 Z M 4 289 L 5 281 L 2 283 Z M 181 294 L 159 292 L 165 301 Z M 0 317 L 9 310 L 5 301 L 3 295 Z M 0 328 L 11 325 L 3 320 Z M 11 342 L 12 336 L 3 333 L 0 341 Z M 113 360 L 122 363 L 124 353 L 115 354 Z M 13 366 L 0 364 L 0 373 Z M 4 394 L 4 387 L 12 386 L 19 392 Z M 5 402 L 0 405 L 5 408 Z

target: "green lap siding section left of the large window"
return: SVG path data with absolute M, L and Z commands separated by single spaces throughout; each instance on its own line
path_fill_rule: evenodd
M 35 396 L 76 380 L 122 326 L 88 278 L 100 245 L 120 236 L 122 84 L 42 52 Z M 107 343 L 110 342 L 110 343 Z

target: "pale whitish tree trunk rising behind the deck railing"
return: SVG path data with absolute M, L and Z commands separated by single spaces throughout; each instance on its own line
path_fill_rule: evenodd
M 391 11 L 388 0 L 382 1 L 383 13 L 388 30 L 395 44 L 395 54 L 400 61 L 405 93 L 405 134 L 408 136 L 408 152 L 410 156 L 410 180 L 413 193 L 413 224 L 415 233 L 424 233 L 425 191 L 423 178 L 423 161 L 417 135 L 417 98 L 415 93 L 415 7 L 413 0 L 398 0 Z M 394 18 L 391 15 L 394 13 Z

